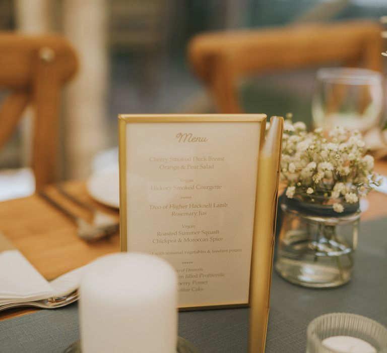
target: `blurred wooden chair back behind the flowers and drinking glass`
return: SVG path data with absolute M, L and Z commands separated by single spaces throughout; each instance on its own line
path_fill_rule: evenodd
M 333 63 L 381 71 L 380 31 L 372 21 L 346 21 L 204 33 L 192 38 L 188 57 L 219 111 L 238 113 L 237 82 L 251 74 Z

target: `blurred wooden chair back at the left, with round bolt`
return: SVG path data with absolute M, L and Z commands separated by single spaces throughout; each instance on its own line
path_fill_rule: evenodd
M 76 69 L 75 52 L 60 36 L 0 33 L 0 88 L 10 92 L 0 109 L 0 148 L 31 105 L 37 188 L 55 180 L 60 88 Z

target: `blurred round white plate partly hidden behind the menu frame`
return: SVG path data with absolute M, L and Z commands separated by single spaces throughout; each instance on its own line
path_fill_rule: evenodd
M 94 200 L 109 207 L 119 208 L 118 166 L 92 174 L 86 187 Z

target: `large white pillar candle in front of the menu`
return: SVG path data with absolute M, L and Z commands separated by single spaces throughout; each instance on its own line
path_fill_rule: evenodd
M 80 286 L 83 353 L 175 353 L 177 276 L 165 260 L 117 253 L 91 263 Z

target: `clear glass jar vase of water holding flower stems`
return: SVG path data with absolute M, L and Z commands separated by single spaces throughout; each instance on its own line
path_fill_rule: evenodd
M 285 199 L 275 268 L 305 287 L 336 287 L 351 279 L 359 204 L 337 213 L 332 205 Z

